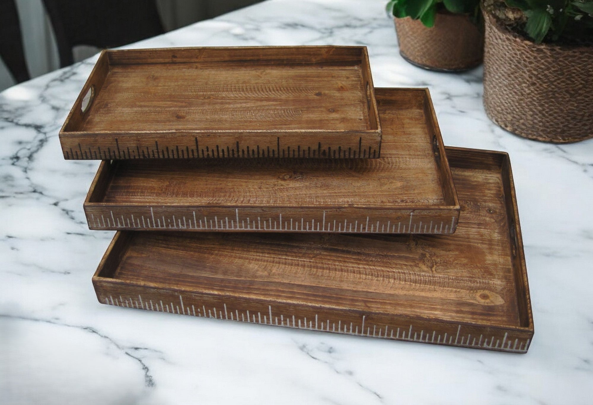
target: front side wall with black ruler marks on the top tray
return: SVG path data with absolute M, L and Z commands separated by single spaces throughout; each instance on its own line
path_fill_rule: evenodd
M 323 142 L 320 142 L 323 140 Z M 151 131 L 60 134 L 64 159 L 237 157 L 377 158 L 380 134 L 364 131 Z

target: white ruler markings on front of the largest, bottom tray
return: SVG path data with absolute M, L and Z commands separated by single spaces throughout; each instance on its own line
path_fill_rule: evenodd
M 179 306 L 176 305 L 175 307 L 173 306 L 173 302 L 170 302 L 171 304 L 171 311 L 169 311 L 169 307 L 168 304 L 164 305 L 162 303 L 162 300 L 160 300 L 161 303 L 161 310 L 159 310 L 158 308 L 158 303 L 155 303 L 156 305 L 156 310 L 154 309 L 154 307 L 152 307 L 152 300 L 149 300 L 149 302 L 151 303 L 151 307 L 148 307 L 148 302 L 146 302 L 146 300 L 142 300 L 141 294 L 138 294 L 138 298 L 140 300 L 141 304 L 138 304 L 138 301 L 136 300 L 132 300 L 131 297 L 127 297 L 125 300 L 123 299 L 122 295 L 119 296 L 119 301 L 117 300 L 117 297 L 115 299 L 113 299 L 113 294 L 110 294 L 109 297 L 104 297 L 104 301 L 107 305 L 111 305 L 111 306 L 119 306 L 119 307 L 123 307 L 124 304 L 126 307 L 129 307 L 130 305 L 132 306 L 132 308 L 138 308 L 138 309 L 143 309 L 143 310 L 148 310 L 148 311 L 158 311 L 158 312 L 164 312 L 162 310 L 162 308 L 167 308 L 167 312 L 172 312 L 172 313 L 177 313 L 177 314 L 181 314 L 181 315 L 189 315 L 189 316 L 197 316 L 197 317 L 202 317 L 202 314 L 200 313 L 200 310 L 198 308 L 198 312 L 196 314 L 196 310 L 195 310 L 195 306 L 194 304 L 192 304 L 192 313 L 190 313 L 189 311 L 189 307 L 187 307 L 187 312 L 186 312 L 186 307 L 184 307 L 183 304 L 183 297 L 181 294 L 176 294 L 179 297 L 179 302 L 181 304 L 181 311 L 179 309 Z M 130 305 L 128 304 L 128 300 L 130 302 Z M 191 301 L 191 300 L 190 300 Z M 136 303 L 136 306 L 134 306 L 133 303 Z M 257 311 L 257 322 L 256 322 L 256 315 L 255 313 L 251 313 L 251 321 L 250 321 L 250 312 L 249 310 L 241 310 L 239 311 L 238 308 L 235 308 L 235 313 L 233 314 L 233 311 L 230 310 L 231 313 L 231 319 L 228 318 L 228 307 L 226 303 L 222 303 L 222 306 L 224 307 L 224 314 L 225 317 L 222 317 L 222 310 L 219 310 L 219 316 L 216 316 L 216 307 L 212 307 L 212 309 L 208 308 L 208 312 L 206 312 L 206 306 L 205 304 L 202 305 L 202 310 L 203 310 L 203 314 L 205 317 L 209 317 L 212 319 L 221 319 L 221 320 L 234 320 L 236 322 L 246 322 L 246 323 L 259 323 L 259 324 L 268 324 L 268 325 L 273 325 L 273 326 L 284 326 L 284 327 L 291 327 L 291 328 L 295 328 L 295 329 L 308 329 L 308 330 L 320 330 L 323 332 L 332 332 L 332 333 L 340 333 L 343 335 L 354 335 L 354 336 L 367 336 L 369 338 L 381 338 L 381 339 L 393 339 L 393 340 L 405 340 L 407 342 L 422 342 L 422 343 L 434 343 L 436 345 L 447 345 L 447 332 L 444 333 L 444 335 L 441 334 L 441 332 L 439 332 L 438 330 L 432 330 L 432 335 L 431 332 L 429 331 L 425 331 L 424 329 L 420 329 L 420 336 L 417 336 L 417 328 L 415 328 L 413 326 L 413 324 L 410 324 L 410 328 L 406 331 L 404 330 L 401 337 L 400 337 L 400 327 L 391 327 L 388 324 L 373 324 L 372 325 L 372 333 L 371 333 L 371 326 L 369 326 L 368 322 L 366 321 L 366 315 L 362 315 L 361 317 L 361 333 L 358 332 L 358 325 L 354 325 L 353 322 L 344 322 L 343 327 L 342 327 L 342 320 L 338 320 L 337 322 L 337 331 L 336 331 L 336 322 L 331 322 L 331 330 L 330 330 L 330 320 L 327 319 L 326 322 L 326 329 L 323 329 L 323 321 L 321 322 L 321 327 L 319 327 L 318 324 L 318 315 L 315 314 L 315 326 L 313 326 L 313 320 L 310 320 L 307 323 L 307 317 L 302 317 L 303 322 L 301 323 L 301 317 L 297 317 L 295 314 L 287 314 L 286 315 L 286 322 L 285 322 L 285 317 L 284 314 L 280 314 L 280 323 L 278 323 L 278 317 L 276 316 L 276 322 L 273 323 L 272 319 L 273 319 L 273 315 L 272 315 L 272 306 L 268 305 L 268 316 L 264 315 L 263 316 L 263 322 L 262 322 L 262 315 L 261 315 L 261 311 Z M 175 311 L 175 308 L 177 308 L 177 312 Z M 208 315 L 206 315 L 206 313 L 208 313 Z M 213 314 L 213 315 L 212 315 Z M 241 314 L 241 320 L 239 319 L 239 314 Z M 247 315 L 247 320 L 245 320 L 245 315 Z M 292 318 L 292 326 L 291 326 L 291 322 L 290 319 Z M 366 333 L 365 333 L 365 322 L 366 322 Z M 347 326 L 349 324 L 349 327 Z M 308 326 L 307 326 L 308 325 Z M 377 326 L 379 326 L 379 332 L 377 333 Z M 383 327 L 384 332 L 383 332 Z M 354 328 L 354 330 L 353 330 Z M 393 331 L 396 330 L 396 336 L 393 336 Z M 390 335 L 387 335 L 388 332 L 391 332 Z M 406 338 L 406 332 L 407 332 L 407 338 Z M 414 333 L 413 338 L 412 338 L 412 333 Z M 436 335 L 438 333 L 438 335 Z M 482 345 L 482 339 L 483 339 L 483 335 L 480 335 L 480 339 L 478 340 L 478 342 L 476 343 L 476 338 L 474 336 L 472 343 L 470 344 L 470 338 L 471 338 L 471 333 L 467 333 L 467 335 L 465 333 L 463 333 L 461 335 L 461 341 L 459 342 L 458 339 L 460 338 L 460 333 L 461 333 L 461 324 L 457 325 L 457 334 L 455 335 L 455 340 L 453 341 L 452 335 L 449 335 L 449 340 L 448 340 L 448 344 L 449 345 L 455 345 L 455 346 L 461 346 L 461 347 L 466 347 L 466 348 L 495 348 L 495 349 L 500 349 L 502 351 L 506 351 L 506 352 L 514 352 L 514 353 L 525 353 L 527 352 L 527 349 L 529 348 L 529 343 L 531 341 L 530 338 L 527 338 L 525 340 L 519 341 L 519 338 L 515 338 L 515 340 L 507 340 L 508 339 L 508 332 L 505 332 L 505 335 L 502 338 L 502 344 L 500 344 L 500 338 L 495 338 L 495 336 L 489 336 L 486 337 L 486 340 L 484 340 L 484 343 Z M 423 340 L 423 336 L 425 336 L 424 340 Z M 432 336 L 432 338 L 431 338 Z M 435 336 L 436 336 L 436 342 L 435 342 Z M 443 336 L 442 340 L 441 340 L 441 336 Z M 490 338 L 490 343 L 488 343 L 488 338 Z M 496 339 L 496 345 L 493 346 L 494 341 Z M 465 340 L 465 343 L 464 343 Z M 505 342 L 506 344 L 506 348 L 505 348 Z M 511 343 L 513 343 L 513 346 L 511 347 Z M 517 347 L 517 345 L 519 345 Z

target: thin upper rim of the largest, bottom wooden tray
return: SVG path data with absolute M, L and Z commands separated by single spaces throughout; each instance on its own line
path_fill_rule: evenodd
M 508 204 L 509 203 L 509 198 L 510 198 L 510 203 L 511 203 L 511 207 L 512 207 L 512 219 L 514 220 L 515 223 L 515 227 L 514 227 L 514 239 L 517 243 L 517 255 L 515 258 L 512 257 L 511 255 L 511 261 L 512 261 L 512 267 L 514 268 L 515 271 L 515 294 L 517 294 L 517 298 L 519 301 L 519 291 L 517 290 L 518 287 L 518 280 L 517 280 L 517 271 L 519 271 L 519 275 L 520 275 L 520 279 L 521 279 L 521 287 L 524 288 L 524 298 L 525 299 L 525 304 L 526 304 L 526 310 L 527 310 L 527 314 L 525 314 L 525 316 L 527 316 L 527 319 L 525 319 L 527 322 L 527 326 L 522 326 L 522 325 L 502 325 L 502 324 L 492 324 L 492 323 L 486 323 L 484 321 L 476 321 L 476 322 L 461 322 L 461 321 L 455 321 L 455 320 L 447 320 L 447 319 L 442 319 L 439 317 L 433 317 L 433 316 L 419 316 L 419 315 L 409 315 L 409 314 L 396 314 L 393 312 L 388 312 L 388 311 L 378 311 L 378 310 L 357 310 L 355 308 L 340 308 L 340 309 L 346 309 L 352 313 L 366 313 L 366 314 L 373 314 L 373 315 L 379 315 L 379 316 L 391 316 L 391 317 L 397 317 L 398 319 L 410 319 L 410 320 L 423 320 L 423 321 L 429 321 L 429 322 L 438 322 L 438 323 L 445 323 L 445 324 L 461 324 L 461 325 L 466 325 L 466 326 L 479 326 L 479 327 L 489 327 L 492 329 L 497 329 L 497 330 L 514 330 L 517 332 L 527 332 L 527 333 L 531 333 L 532 335 L 535 333 L 534 330 L 534 323 L 533 323 L 533 311 L 531 308 L 531 296 L 530 296 L 530 290 L 529 290 L 529 284 L 528 284 L 528 278 L 527 278 L 527 266 L 525 264 L 525 253 L 524 253 L 524 245 L 523 245 L 523 241 L 522 241 L 522 234 L 521 234 L 521 226 L 519 224 L 519 217 L 518 217 L 518 207 L 517 207 L 517 196 L 515 193 L 515 187 L 514 187 L 514 181 L 512 178 L 512 171 L 511 171 L 511 163 L 510 163 L 510 159 L 509 159 L 509 155 L 506 152 L 500 152 L 500 151 L 495 151 L 495 150 L 482 150 L 482 149 L 470 149 L 470 148 L 463 148 L 463 147 L 447 147 L 447 150 L 451 150 L 451 152 L 470 152 L 470 153 L 483 153 L 483 154 L 492 154 L 492 155 L 499 155 L 500 157 L 502 157 L 503 159 L 503 165 L 502 168 L 504 166 L 506 166 L 508 168 L 508 179 L 509 179 L 509 185 L 511 186 L 511 192 L 509 195 L 509 197 L 505 197 L 505 203 Z M 511 217 L 510 215 L 511 213 L 507 214 L 507 218 Z M 113 257 L 111 257 L 111 252 L 118 246 L 118 245 L 122 245 L 127 243 L 126 238 L 131 237 L 130 235 L 136 234 L 137 232 L 134 231 L 117 231 L 116 234 L 114 235 L 113 239 L 111 240 L 109 247 L 107 248 L 106 252 L 104 253 L 103 257 L 101 258 L 101 261 L 99 263 L 99 265 L 97 266 L 97 270 L 95 271 L 92 281 L 93 281 L 93 285 L 95 285 L 95 283 L 105 283 L 105 284 L 112 284 L 112 285 L 132 285 L 135 287 L 147 287 L 147 288 L 155 288 L 158 290 L 166 290 L 166 291 L 171 291 L 171 292 L 178 292 L 178 291 L 182 291 L 185 293 L 189 293 L 189 294 L 199 294 L 199 295 L 204 295 L 204 296 L 211 296 L 211 297 L 233 297 L 233 298 L 238 298 L 238 299 L 243 299 L 243 300 L 252 300 L 252 301 L 262 301 L 264 303 L 288 303 L 288 304 L 295 304 L 294 301 L 288 301 L 288 300 L 282 300 L 280 298 L 275 298 L 273 301 L 270 298 L 250 298 L 250 297 L 244 297 L 244 296 L 240 296 L 237 294 L 221 294 L 221 293 L 212 293 L 212 292 L 208 292 L 208 291 L 198 291 L 196 292 L 195 290 L 192 290 L 190 288 L 186 288 L 183 286 L 178 286 L 178 287 L 167 287 L 167 285 L 165 284 L 161 284 L 158 282 L 150 282 L 150 281 L 125 281 L 122 279 L 118 279 L 118 278 L 114 278 L 114 277 L 106 277 L 104 275 L 101 275 L 101 273 L 104 272 L 108 272 L 109 269 L 107 269 L 107 265 L 108 265 L 108 261 L 110 261 L 111 259 L 113 259 Z M 446 237 L 446 236 L 443 236 Z M 510 235 L 509 235 L 510 237 Z M 510 239 L 509 239 L 510 242 Z M 119 254 L 122 254 L 123 252 L 125 252 L 125 249 L 120 249 L 119 250 Z M 96 286 L 95 286 L 95 290 L 96 290 Z M 98 298 L 98 297 L 97 297 Z M 101 301 L 99 301 L 101 303 Z M 314 303 L 304 303 L 305 306 L 307 307 L 311 307 L 311 308 L 324 308 L 324 309 L 331 309 L 331 308 L 336 308 L 336 307 L 330 307 L 330 306 L 322 306 L 319 304 L 314 304 Z M 517 303 L 518 307 L 519 307 L 519 302 Z M 524 323 L 523 320 L 521 319 L 521 309 L 517 308 L 518 312 L 519 312 L 519 323 Z

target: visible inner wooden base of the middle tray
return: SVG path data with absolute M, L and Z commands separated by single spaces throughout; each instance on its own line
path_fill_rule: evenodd
M 445 199 L 426 123 L 423 91 L 377 92 L 380 159 L 120 160 L 93 202 L 385 208 Z M 422 179 L 419 181 L 418 179 Z

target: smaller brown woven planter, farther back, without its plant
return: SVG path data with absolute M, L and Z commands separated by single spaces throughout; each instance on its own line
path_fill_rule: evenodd
M 400 54 L 413 65 L 457 72 L 482 63 L 484 36 L 467 15 L 438 12 L 432 28 L 410 17 L 393 20 Z

